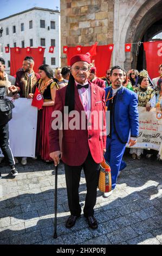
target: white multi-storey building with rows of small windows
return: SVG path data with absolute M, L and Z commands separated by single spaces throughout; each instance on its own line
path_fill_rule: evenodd
M 3 28 L 0 54 L 8 74 L 10 53 L 5 53 L 5 46 L 45 47 L 44 64 L 50 65 L 53 70 L 61 65 L 60 11 L 34 7 L 1 19 L 0 26 Z M 54 53 L 48 52 L 50 46 L 55 46 Z

